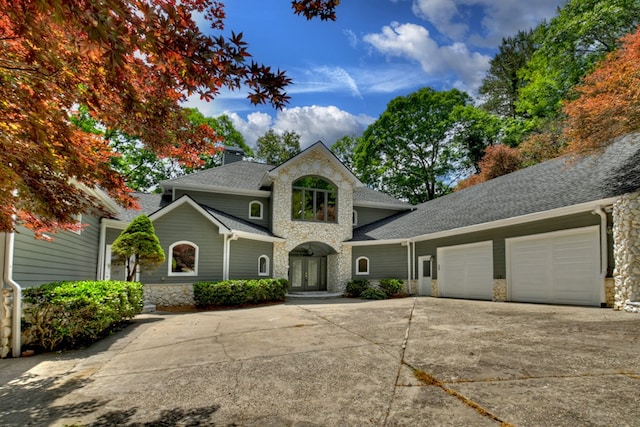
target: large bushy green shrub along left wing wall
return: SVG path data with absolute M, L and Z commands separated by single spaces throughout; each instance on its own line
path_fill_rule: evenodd
M 120 329 L 142 311 L 137 282 L 54 282 L 23 291 L 22 331 L 32 344 L 52 351 L 79 348 Z

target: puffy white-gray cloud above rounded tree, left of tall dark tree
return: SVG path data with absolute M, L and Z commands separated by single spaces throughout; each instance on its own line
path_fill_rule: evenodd
M 463 43 L 439 46 L 429 31 L 416 24 L 391 23 L 364 40 L 379 52 L 418 61 L 432 78 L 449 80 L 461 90 L 475 93 L 488 69 L 489 56 L 471 52 Z

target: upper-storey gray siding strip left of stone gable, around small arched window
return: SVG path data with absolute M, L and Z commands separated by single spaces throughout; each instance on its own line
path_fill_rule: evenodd
M 234 194 L 209 193 L 204 191 L 176 190 L 176 199 L 188 194 L 196 202 L 242 218 L 253 224 L 270 228 L 271 203 L 267 197 L 238 196 Z M 252 201 L 262 202 L 262 219 L 249 218 L 249 204 Z

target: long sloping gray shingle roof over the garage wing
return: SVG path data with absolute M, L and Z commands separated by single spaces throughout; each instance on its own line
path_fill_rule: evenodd
M 640 189 L 640 133 L 603 154 L 562 157 L 354 230 L 354 241 L 420 236 L 603 200 Z

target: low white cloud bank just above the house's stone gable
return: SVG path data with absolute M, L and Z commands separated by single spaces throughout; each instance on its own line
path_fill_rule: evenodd
M 278 112 L 275 120 L 265 113 L 249 114 L 246 120 L 237 113 L 227 115 L 247 144 L 253 147 L 257 139 L 269 129 L 279 133 L 296 132 L 300 135 L 300 146 L 303 149 L 318 140 L 330 146 L 345 135 L 359 136 L 374 121 L 372 117 L 354 116 L 335 106 L 317 105 L 285 108 Z

